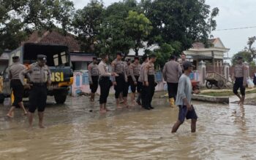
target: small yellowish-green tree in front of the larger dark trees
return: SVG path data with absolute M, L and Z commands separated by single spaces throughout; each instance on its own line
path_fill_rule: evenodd
M 148 35 L 152 30 L 151 22 L 144 14 L 135 11 L 129 11 L 126 18 L 127 34 L 134 42 L 133 50 L 138 56 L 138 51 L 143 48 L 143 41 L 147 41 Z

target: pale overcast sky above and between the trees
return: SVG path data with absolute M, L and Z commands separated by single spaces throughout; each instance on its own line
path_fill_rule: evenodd
M 75 8 L 83 8 L 89 0 L 73 0 Z M 118 0 L 103 0 L 108 6 Z M 256 26 L 255 0 L 206 0 L 211 8 L 219 7 L 217 30 Z M 214 31 L 214 37 L 222 39 L 225 47 L 230 48 L 229 55 L 241 51 L 246 46 L 249 36 L 256 36 L 256 28 Z M 255 45 L 256 46 L 256 45 Z

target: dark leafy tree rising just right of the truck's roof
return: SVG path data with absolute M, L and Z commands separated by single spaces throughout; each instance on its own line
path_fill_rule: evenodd
M 82 48 L 86 52 L 97 52 L 94 43 L 97 42 L 99 28 L 103 19 L 102 1 L 91 0 L 83 9 L 78 9 L 72 21 L 74 32 L 78 34 L 78 39 L 83 41 Z

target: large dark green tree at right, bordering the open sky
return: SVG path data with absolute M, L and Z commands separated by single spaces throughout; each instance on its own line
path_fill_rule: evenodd
M 214 17 L 219 9 L 211 12 L 205 0 L 143 0 L 141 5 L 153 25 L 149 43 L 179 41 L 181 49 L 175 51 L 176 55 L 195 41 L 207 44 L 209 33 L 216 28 Z

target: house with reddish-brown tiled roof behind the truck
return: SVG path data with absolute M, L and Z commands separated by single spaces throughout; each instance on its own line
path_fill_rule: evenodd
M 81 51 L 81 42 L 75 39 L 71 33 L 66 36 L 57 31 L 35 31 L 29 36 L 24 43 L 37 43 L 37 44 L 61 44 L 69 47 L 70 60 L 74 70 L 87 70 L 87 66 L 92 61 L 93 54 L 87 54 Z

